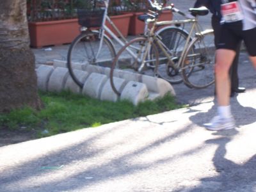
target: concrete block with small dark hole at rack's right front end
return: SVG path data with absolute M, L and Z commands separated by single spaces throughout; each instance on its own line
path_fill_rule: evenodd
M 144 83 L 129 81 L 121 93 L 120 99 L 130 100 L 132 104 L 137 105 L 149 97 L 147 86 Z

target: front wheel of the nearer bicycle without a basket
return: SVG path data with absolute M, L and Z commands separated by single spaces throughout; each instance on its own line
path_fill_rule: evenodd
M 150 46 L 151 51 L 150 51 Z M 146 47 L 148 50 L 146 51 Z M 131 55 L 132 51 L 136 58 Z M 141 67 L 141 58 L 145 56 L 145 65 Z M 156 66 L 158 65 L 158 52 L 156 45 L 152 42 L 148 45 L 148 39 L 145 37 L 134 38 L 125 44 L 116 54 L 110 70 L 109 80 L 111 88 L 117 95 L 121 95 L 122 90 L 118 88 L 117 79 L 115 77 L 124 78 L 125 81 L 140 81 L 139 76 L 129 76 L 127 72 L 147 74 L 149 76 L 156 76 Z M 141 67 L 141 68 L 140 68 Z M 118 70 L 116 70 L 118 69 Z M 141 69 L 141 70 L 140 70 Z M 122 72 L 120 72 L 122 70 Z M 125 72 L 124 72 L 125 71 Z M 126 74 L 125 74 L 126 73 Z M 124 77 L 125 76 L 125 77 Z

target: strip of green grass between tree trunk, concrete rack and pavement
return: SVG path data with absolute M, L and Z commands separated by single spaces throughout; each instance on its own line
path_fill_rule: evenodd
M 182 107 L 176 104 L 171 95 L 154 101 L 147 100 L 138 106 L 127 100 L 114 103 L 70 92 L 40 93 L 40 97 L 44 102 L 44 109 L 36 111 L 26 107 L 0 114 L 0 127 L 36 129 L 38 137 L 42 137 Z M 48 133 L 42 134 L 45 129 Z

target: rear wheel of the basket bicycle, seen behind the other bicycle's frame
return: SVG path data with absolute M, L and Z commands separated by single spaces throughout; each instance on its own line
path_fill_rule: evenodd
M 158 48 L 159 66 L 157 74 L 171 84 L 182 83 L 183 78 L 180 74 L 179 60 L 188 39 L 188 33 L 180 28 L 166 27 L 157 31 L 161 42 L 168 48 L 166 51 L 171 55 L 171 60 L 176 65 L 176 69 L 172 67 L 172 63 L 167 60 L 163 51 Z M 189 40 L 191 42 L 191 39 Z

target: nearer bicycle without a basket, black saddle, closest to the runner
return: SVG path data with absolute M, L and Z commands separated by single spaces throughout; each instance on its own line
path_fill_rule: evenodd
M 150 13 L 151 19 L 147 19 L 147 22 L 151 23 L 152 27 L 148 29 L 148 33 L 145 36 L 131 40 L 116 54 L 109 77 L 113 91 L 120 95 L 121 91 L 116 89 L 114 80 L 114 77 L 117 76 L 115 73 L 116 66 L 123 70 L 141 74 L 148 74 L 148 69 L 152 69 L 154 76 L 161 77 L 170 83 L 183 81 L 189 88 L 205 88 L 213 84 L 213 30 L 201 31 L 198 24 L 198 16 L 207 15 L 209 10 L 207 8 L 190 8 L 189 12 L 195 17 L 189 18 L 186 13 L 174 8 L 173 4 L 163 8 L 159 4 L 148 1 L 157 10 L 157 12 Z M 185 19 L 158 22 L 158 12 L 163 10 L 172 10 L 172 12 L 179 13 Z M 188 23 L 191 23 L 189 33 L 177 26 L 172 27 L 173 34 L 182 34 L 178 37 L 173 37 L 173 40 L 170 41 L 172 45 L 166 46 L 161 41 L 161 37 L 154 32 L 156 26 Z M 180 44 L 180 38 L 182 38 L 182 44 Z M 209 40 L 205 40 L 207 38 Z M 179 47 L 175 42 L 179 42 L 177 44 Z M 210 47 L 206 45 L 209 42 L 212 44 Z M 128 56 L 129 60 L 127 59 Z M 199 63 L 196 63 L 198 61 Z

